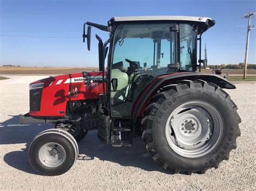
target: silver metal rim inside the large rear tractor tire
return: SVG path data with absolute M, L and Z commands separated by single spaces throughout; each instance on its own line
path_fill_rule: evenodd
M 193 101 L 176 108 L 166 122 L 165 136 L 176 153 L 197 158 L 211 152 L 219 143 L 223 122 L 212 105 Z

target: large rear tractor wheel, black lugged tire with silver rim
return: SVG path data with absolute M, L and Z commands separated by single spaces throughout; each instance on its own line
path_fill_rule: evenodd
M 143 139 L 153 159 L 176 173 L 218 168 L 240 136 L 237 106 L 215 84 L 183 80 L 164 87 L 145 110 Z

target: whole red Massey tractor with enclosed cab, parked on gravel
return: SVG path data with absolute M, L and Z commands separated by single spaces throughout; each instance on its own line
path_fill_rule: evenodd
M 30 84 L 30 111 L 21 123 L 55 125 L 33 139 L 31 166 L 43 175 L 69 171 L 78 157 L 77 142 L 97 129 L 102 143 L 116 147 L 142 136 L 153 159 L 176 173 L 218 168 L 236 147 L 241 119 L 223 90 L 234 84 L 200 73 L 206 63 L 201 36 L 214 24 L 181 16 L 113 17 L 107 26 L 86 22 L 83 41 L 89 51 L 92 26 L 109 32 L 105 43 L 96 34 L 99 72 Z

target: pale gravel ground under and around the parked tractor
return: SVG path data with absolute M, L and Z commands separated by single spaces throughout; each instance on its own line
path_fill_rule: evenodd
M 18 125 L 18 115 L 29 111 L 32 81 L 47 76 L 8 76 L 0 81 L 0 189 L 255 189 L 256 84 L 239 83 L 227 90 L 238 105 L 241 137 L 230 160 L 205 174 L 173 174 L 147 153 L 142 138 L 132 147 L 111 147 L 89 131 L 78 144 L 79 160 L 60 176 L 42 176 L 28 161 L 28 147 L 37 133 L 51 124 Z

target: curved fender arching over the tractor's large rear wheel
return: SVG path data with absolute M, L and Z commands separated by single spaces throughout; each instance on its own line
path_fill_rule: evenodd
M 139 96 L 137 103 L 134 105 L 132 118 L 133 122 L 137 121 L 138 117 L 143 115 L 147 103 L 150 98 L 157 93 L 157 91 L 168 84 L 174 83 L 178 80 L 204 80 L 212 82 L 223 89 L 235 89 L 235 85 L 223 77 L 215 74 L 206 73 L 175 73 L 168 75 L 161 75 L 151 81 L 151 83 L 144 89 L 143 93 Z

